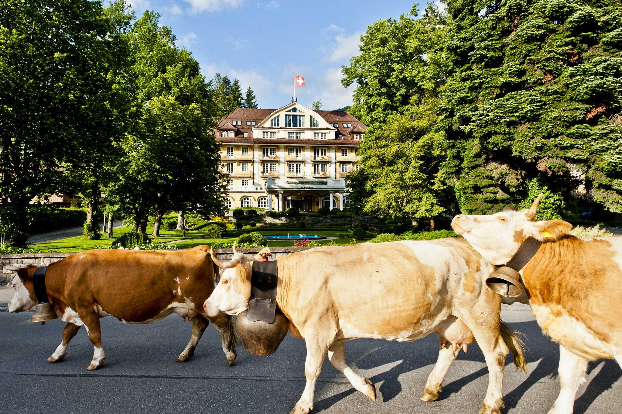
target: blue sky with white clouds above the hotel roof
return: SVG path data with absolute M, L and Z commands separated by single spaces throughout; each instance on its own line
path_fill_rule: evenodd
M 369 24 L 399 17 L 414 0 L 128 0 L 137 15 L 162 15 L 177 44 L 190 50 L 203 75 L 216 72 L 251 85 L 260 108 L 280 108 L 291 100 L 294 73 L 305 77 L 296 88 L 300 103 L 316 99 L 322 109 L 351 105 L 353 88 L 341 86 L 341 65 L 358 54 Z M 422 2 L 423 4 L 424 2 Z M 420 7 L 421 8 L 421 7 Z

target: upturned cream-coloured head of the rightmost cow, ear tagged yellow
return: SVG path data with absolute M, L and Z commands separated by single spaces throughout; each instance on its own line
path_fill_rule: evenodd
M 453 217 L 453 230 L 462 235 L 483 258 L 493 265 L 508 263 L 527 238 L 544 242 L 557 240 L 570 231 L 564 220 L 536 222 L 540 194 L 528 210 L 504 211 L 491 215 L 460 214 Z

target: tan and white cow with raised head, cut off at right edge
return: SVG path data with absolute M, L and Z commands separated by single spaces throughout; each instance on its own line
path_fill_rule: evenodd
M 571 414 L 588 361 L 622 364 L 622 237 L 574 237 L 564 220 L 535 221 L 541 197 L 527 210 L 457 215 L 452 227 L 493 265 L 527 238 L 542 242 L 519 273 L 542 332 L 559 343 L 560 393 L 549 414 Z

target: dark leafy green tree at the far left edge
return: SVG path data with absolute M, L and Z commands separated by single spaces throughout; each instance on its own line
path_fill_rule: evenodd
M 100 2 L 5 0 L 0 7 L 0 222 L 27 241 L 34 197 L 69 191 L 67 166 L 116 129 L 114 25 Z

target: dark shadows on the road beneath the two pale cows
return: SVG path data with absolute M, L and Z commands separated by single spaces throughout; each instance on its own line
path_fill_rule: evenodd
M 554 379 L 555 383 L 557 383 L 557 365 L 559 362 L 559 349 L 557 344 L 542 335 L 541 329 L 537 325 L 536 321 L 514 322 L 511 323 L 511 327 L 526 334 L 526 338 L 524 338 L 528 348 L 525 353 L 526 362 L 527 364 L 537 362 L 537 365 L 535 368 L 527 372 L 526 377 L 524 377 L 524 380 L 520 385 L 518 385 L 518 387 L 504 395 L 503 400 L 506 404 L 506 410 L 516 408 L 521 398 L 535 383 L 540 382 L 543 379 Z M 391 366 L 390 369 L 369 377 L 369 379 L 374 383 L 382 382 L 378 388 L 378 400 L 382 402 L 388 402 L 402 392 L 402 384 L 399 381 L 399 377 L 402 374 L 420 370 L 419 375 L 422 376 L 421 380 L 425 385 L 425 380 L 432 371 L 432 367 L 437 359 L 436 352 L 429 352 L 430 349 L 437 349 L 438 346 L 438 341 L 434 334 L 419 339 L 413 344 L 399 344 L 396 342 L 380 342 L 374 340 L 373 342 L 368 342 L 371 346 L 354 346 L 356 342 L 360 341 L 369 340 L 352 341 L 346 344 L 346 360 L 348 360 L 351 367 L 355 368 L 355 370 L 356 368 L 366 370 L 374 369 L 382 365 Z M 350 346 L 350 344 L 353 345 L 351 346 L 353 349 L 348 352 L 348 346 Z M 364 348 L 367 348 L 367 352 Z M 369 352 L 369 348 L 376 349 Z M 364 357 L 356 360 L 356 357 L 352 357 L 353 352 L 364 354 Z M 471 344 L 468 353 L 465 354 L 464 352 L 460 352 L 458 360 L 455 364 L 460 364 L 460 360 L 481 362 L 482 367 L 481 369 L 465 375 L 460 379 L 444 383 L 443 392 L 441 393 L 439 400 L 444 400 L 450 397 L 453 393 L 460 392 L 460 390 L 468 383 L 488 374 L 488 368 L 486 367 L 484 355 L 475 343 Z M 507 369 L 514 367 L 511 360 L 512 356 L 510 354 L 508 355 L 509 366 L 506 367 Z M 588 375 L 600 365 L 602 365 L 602 367 L 598 374 L 596 374 L 593 378 L 588 379 L 588 385 L 587 388 L 585 388 L 585 392 L 581 394 L 580 391 L 578 393 L 579 397 L 575 402 L 575 414 L 584 414 L 596 398 L 601 395 L 601 393 L 610 389 L 613 383 L 622 377 L 622 370 L 613 360 L 601 360 L 590 363 L 590 366 L 588 367 Z M 454 368 L 452 367 L 452 369 Z M 318 386 L 322 387 L 320 383 L 318 383 Z M 420 390 L 408 389 L 406 392 L 413 393 L 413 397 L 418 398 L 420 393 L 423 393 L 423 386 Z M 332 395 L 331 397 L 319 400 L 315 403 L 315 410 L 316 412 L 327 410 L 335 403 L 340 402 L 353 393 L 356 393 L 356 390 L 354 388 L 349 388 L 348 390 Z M 555 390 L 555 398 L 557 398 L 556 393 L 557 388 Z

